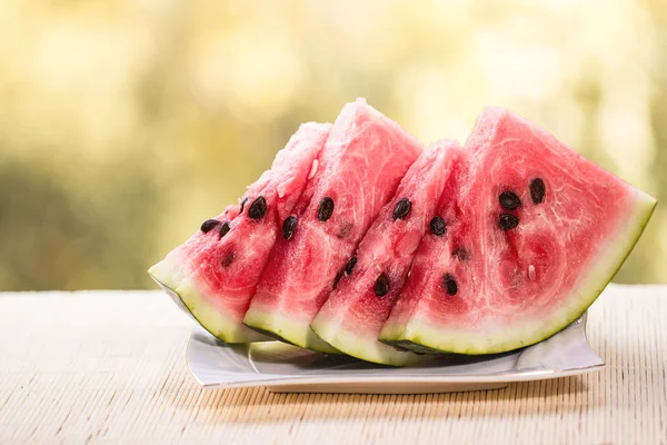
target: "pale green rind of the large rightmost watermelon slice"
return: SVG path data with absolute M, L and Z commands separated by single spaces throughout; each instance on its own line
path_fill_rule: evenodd
M 551 337 L 574 323 L 593 305 L 639 240 L 654 212 L 657 200 L 637 190 L 635 202 L 634 215 L 627 218 L 626 228 L 615 238 L 616 243 L 598 254 L 600 260 L 593 266 L 595 270 L 588 274 L 589 279 L 578 286 L 569 297 L 571 303 L 563 307 L 548 325 L 545 326 L 538 320 L 535 325 L 539 327 L 536 328 L 522 327 L 514 333 L 505 330 L 502 333 L 504 339 L 498 342 L 497 338 L 489 340 L 488 335 L 471 330 L 448 332 L 444 326 L 437 327 L 422 318 L 415 317 L 407 325 L 385 325 L 379 337 L 380 342 L 391 346 L 407 347 L 416 352 L 438 350 L 484 355 L 519 349 Z M 574 294 L 578 294 L 578 296 Z

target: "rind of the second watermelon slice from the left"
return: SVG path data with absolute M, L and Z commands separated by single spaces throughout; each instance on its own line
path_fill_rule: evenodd
M 243 318 L 243 325 L 261 333 L 271 333 L 272 337 L 290 345 L 323 354 L 341 354 L 331 345 L 319 338 L 309 327 L 309 323 L 297 322 L 276 310 L 250 306 Z

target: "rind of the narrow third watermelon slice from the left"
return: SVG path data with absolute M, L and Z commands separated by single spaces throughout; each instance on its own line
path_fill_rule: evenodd
M 378 365 L 415 366 L 431 358 L 431 356 L 422 354 L 397 350 L 391 346 L 378 343 L 375 336 L 360 337 L 319 316 L 312 320 L 310 328 L 321 339 L 345 354 Z

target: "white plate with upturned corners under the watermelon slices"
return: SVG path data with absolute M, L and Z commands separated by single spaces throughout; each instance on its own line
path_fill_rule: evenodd
M 554 337 L 525 349 L 477 357 L 441 356 L 419 367 L 386 367 L 278 342 L 227 345 L 199 325 L 192 330 L 187 359 L 203 387 L 267 386 L 281 393 L 496 389 L 510 382 L 566 377 L 605 367 L 586 339 L 586 315 Z

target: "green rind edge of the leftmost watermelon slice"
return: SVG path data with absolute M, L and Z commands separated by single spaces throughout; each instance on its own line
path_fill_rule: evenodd
M 271 340 L 226 316 L 220 307 L 208 303 L 196 284 L 168 261 L 162 260 L 152 266 L 148 269 L 148 275 L 175 300 L 178 298 L 182 303 L 179 306 L 219 340 L 229 344 Z

